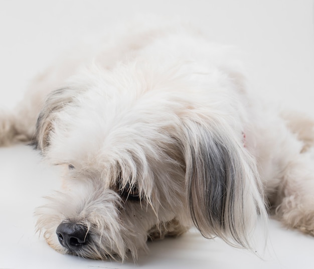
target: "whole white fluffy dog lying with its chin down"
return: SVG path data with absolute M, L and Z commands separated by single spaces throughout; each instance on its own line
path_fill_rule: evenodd
M 183 26 L 116 34 L 38 77 L 0 144 L 66 167 L 37 228 L 62 253 L 135 259 L 195 225 L 251 247 L 273 209 L 314 234 L 314 122 L 248 93 L 229 48 Z

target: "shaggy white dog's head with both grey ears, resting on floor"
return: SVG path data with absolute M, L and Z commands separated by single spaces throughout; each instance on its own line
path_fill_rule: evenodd
M 198 75 L 200 86 L 170 73 L 94 67 L 48 96 L 37 146 L 65 175 L 37 225 L 56 250 L 136 258 L 147 239 L 193 223 L 249 247 L 264 209 L 254 162 L 221 113 L 229 100 L 202 88 L 210 75 Z

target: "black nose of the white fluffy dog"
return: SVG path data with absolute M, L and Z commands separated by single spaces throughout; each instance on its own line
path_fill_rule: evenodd
M 88 230 L 82 224 L 62 222 L 56 230 L 59 242 L 71 251 L 76 251 L 88 243 Z

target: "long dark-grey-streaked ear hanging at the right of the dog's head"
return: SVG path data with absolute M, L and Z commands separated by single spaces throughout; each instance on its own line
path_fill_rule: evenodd
M 184 155 L 190 213 L 203 236 L 251 248 L 258 213 L 267 218 L 256 165 L 230 127 L 186 121 Z

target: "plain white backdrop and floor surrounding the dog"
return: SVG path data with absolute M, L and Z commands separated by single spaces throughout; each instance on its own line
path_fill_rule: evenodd
M 238 46 L 257 91 L 314 116 L 310 0 L 0 0 L 0 108 L 13 108 L 34 75 L 77 39 L 147 12 L 181 17 Z M 30 147 L 0 148 L 0 268 L 314 268 L 314 238 L 273 220 L 264 259 L 195 231 L 149 243 L 135 265 L 61 255 L 34 231 L 34 208 L 59 185 L 56 168 L 40 160 Z

